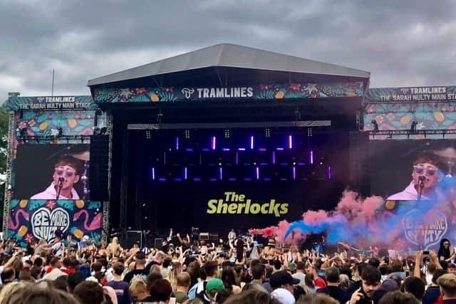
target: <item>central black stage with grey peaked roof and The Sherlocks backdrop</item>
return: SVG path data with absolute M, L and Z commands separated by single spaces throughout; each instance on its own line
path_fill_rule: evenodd
M 226 235 L 230 228 L 263 228 L 299 219 L 308 209 L 331 209 L 346 187 L 368 191 L 368 136 L 358 130 L 369 77 L 219 44 L 89 80 L 95 102 L 112 120 L 110 225 L 156 235 L 192 227 Z M 353 83 L 361 90 L 347 94 Z M 268 84 L 275 95 L 255 93 Z M 125 88 L 125 103 L 103 99 Z M 151 100 L 130 97 L 148 88 L 179 90 L 180 96 L 185 88 L 199 97 L 203 88 L 222 93 L 168 102 L 150 92 Z M 253 94 L 247 89 L 234 97 L 230 88 L 252 88 Z M 279 88 L 297 93 L 281 95 Z M 325 88 L 335 93 L 321 93 Z M 247 199 L 266 206 L 247 206 Z M 284 202 L 287 212 L 274 209 Z

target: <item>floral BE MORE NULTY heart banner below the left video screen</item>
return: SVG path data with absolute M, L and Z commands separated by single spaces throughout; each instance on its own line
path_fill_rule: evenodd
M 76 240 L 89 236 L 98 243 L 101 221 L 100 201 L 12 199 L 8 236 L 25 247 L 31 239 L 51 241 L 60 229 L 63 239 L 68 235 Z

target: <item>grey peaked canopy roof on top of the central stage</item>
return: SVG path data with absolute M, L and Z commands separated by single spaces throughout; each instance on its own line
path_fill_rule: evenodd
M 88 86 L 118 83 L 125 80 L 209 67 L 246 68 L 366 79 L 370 78 L 371 75 L 370 72 L 346 68 L 341 65 L 311 61 L 305 58 L 264 51 L 258 48 L 222 43 L 166 58 L 161 61 L 140 65 L 136 68 L 130 68 L 118 73 L 94 78 L 88 80 Z

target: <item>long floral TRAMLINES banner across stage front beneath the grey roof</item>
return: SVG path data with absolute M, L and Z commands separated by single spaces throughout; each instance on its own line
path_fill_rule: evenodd
M 98 88 L 94 90 L 96 103 L 175 103 L 182 101 L 214 100 L 284 100 L 364 95 L 364 83 L 294 83 L 255 85 L 244 87 L 204 88 Z

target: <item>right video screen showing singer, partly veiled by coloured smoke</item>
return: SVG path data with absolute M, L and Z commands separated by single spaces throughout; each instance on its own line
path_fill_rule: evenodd
M 387 200 L 440 201 L 456 194 L 455 140 L 371 140 L 371 194 Z

